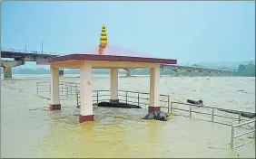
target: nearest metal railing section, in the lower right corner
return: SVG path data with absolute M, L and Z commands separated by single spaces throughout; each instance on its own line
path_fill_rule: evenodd
M 235 128 L 236 127 L 249 125 L 251 123 L 254 123 L 254 128 L 252 127 L 249 131 L 235 136 Z M 236 138 L 241 137 L 241 136 L 246 136 L 246 135 L 249 135 L 251 133 L 254 133 L 253 137 L 252 137 L 253 139 L 251 139 L 249 141 L 246 141 L 246 142 L 243 142 L 240 145 L 234 145 L 234 141 L 235 141 Z M 231 149 L 241 147 L 241 145 L 246 145 L 246 144 L 251 143 L 253 141 L 255 142 L 255 118 L 253 120 L 250 120 L 250 121 L 247 121 L 247 122 L 244 122 L 244 123 L 241 123 L 241 124 L 231 125 Z

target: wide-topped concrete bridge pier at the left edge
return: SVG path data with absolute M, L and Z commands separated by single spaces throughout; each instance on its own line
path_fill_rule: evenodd
M 13 77 L 12 68 L 24 65 L 25 61 L 2 61 L 1 67 L 4 68 L 4 79 L 11 79 Z

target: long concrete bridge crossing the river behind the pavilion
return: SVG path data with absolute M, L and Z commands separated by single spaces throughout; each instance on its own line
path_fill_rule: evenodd
M 12 78 L 12 68 L 25 64 L 25 61 L 38 61 L 43 59 L 49 59 L 56 56 L 60 56 L 56 52 L 42 52 L 42 51 L 25 51 L 25 50 L 14 50 L 14 49 L 3 49 L 1 50 L 1 58 L 12 58 L 14 61 L 3 61 L 1 60 L 1 67 L 4 68 L 4 77 Z M 174 76 L 178 76 L 179 71 L 187 70 L 190 76 L 193 76 L 195 72 L 202 73 L 207 71 L 213 76 L 234 76 L 236 70 L 223 70 L 223 69 L 210 69 L 192 66 L 180 66 L 180 65 L 166 65 L 162 64 L 162 70 L 171 69 L 174 71 Z M 126 76 L 131 76 L 131 69 L 126 70 Z M 64 75 L 64 70 L 59 70 L 60 75 Z

